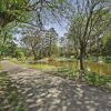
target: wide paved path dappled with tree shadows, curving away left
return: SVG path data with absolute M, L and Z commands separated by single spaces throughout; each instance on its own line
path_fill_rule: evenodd
M 20 67 L 8 61 L 3 64 L 26 111 L 111 111 L 111 93 L 38 70 L 17 71 Z

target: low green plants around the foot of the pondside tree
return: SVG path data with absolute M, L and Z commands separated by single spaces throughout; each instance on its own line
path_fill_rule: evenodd
M 59 69 L 58 70 L 58 75 L 59 73 L 61 77 L 72 79 L 72 80 L 80 80 L 82 82 L 85 82 L 89 85 L 94 85 L 99 88 L 107 88 L 108 90 L 111 91 L 111 75 L 104 75 L 104 74 L 99 74 L 97 72 L 90 72 L 90 71 L 84 71 L 84 74 L 81 77 L 81 73 L 79 70 L 73 70 L 73 69 Z

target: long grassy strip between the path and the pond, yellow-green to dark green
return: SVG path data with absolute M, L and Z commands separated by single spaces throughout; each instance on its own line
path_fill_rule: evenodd
M 17 61 L 17 60 L 12 62 L 21 63 L 20 61 Z M 26 63 L 21 63 L 21 64 L 24 65 Z M 40 64 L 40 63 L 37 63 L 37 64 L 28 63 L 27 67 L 31 69 L 48 71 L 50 74 L 56 74 L 56 75 L 60 75 L 60 77 L 77 80 L 77 81 L 79 81 L 79 79 L 81 78 L 79 70 L 73 70 L 69 68 L 58 68 L 58 67 L 53 67 L 49 64 Z M 108 88 L 111 90 L 111 75 L 101 75 L 95 72 L 85 71 L 81 80 L 88 83 L 89 85 Z

